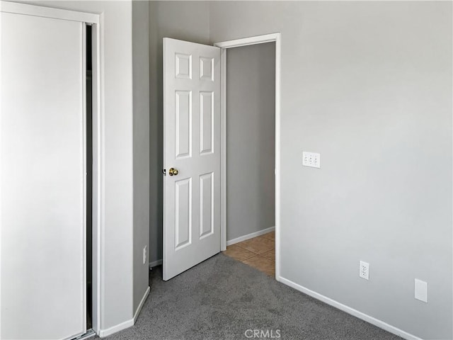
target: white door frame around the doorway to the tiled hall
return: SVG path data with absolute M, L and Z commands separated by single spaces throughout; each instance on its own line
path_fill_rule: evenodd
M 281 33 L 226 40 L 220 47 L 220 250 L 226 250 L 226 50 L 233 47 L 275 42 L 275 280 L 280 278 L 280 69 Z

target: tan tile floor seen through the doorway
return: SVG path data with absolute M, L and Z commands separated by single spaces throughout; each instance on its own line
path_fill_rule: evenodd
M 275 232 L 253 237 L 226 247 L 225 255 L 275 276 Z

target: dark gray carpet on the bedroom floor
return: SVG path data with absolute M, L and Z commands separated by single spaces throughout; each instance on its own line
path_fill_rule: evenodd
M 167 282 L 156 267 L 149 285 L 137 323 L 108 340 L 401 339 L 223 254 Z

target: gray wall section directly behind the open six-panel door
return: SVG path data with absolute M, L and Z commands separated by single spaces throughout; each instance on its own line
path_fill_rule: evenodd
M 209 43 L 209 3 L 151 1 L 149 3 L 150 76 L 150 203 L 149 261 L 162 259 L 162 38 Z

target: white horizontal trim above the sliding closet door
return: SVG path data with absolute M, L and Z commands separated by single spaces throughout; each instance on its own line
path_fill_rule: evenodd
M 41 16 L 43 18 L 54 18 L 60 20 L 81 21 L 83 23 L 99 23 L 98 14 L 29 4 L 19 4 L 17 2 L 9 1 L 0 1 L 0 12 L 17 13 L 25 16 Z

